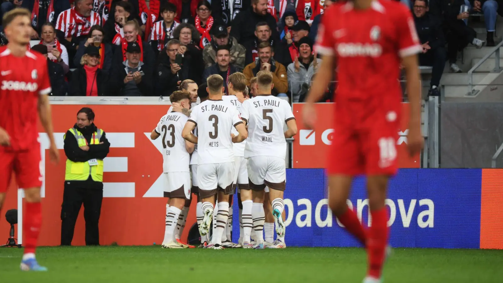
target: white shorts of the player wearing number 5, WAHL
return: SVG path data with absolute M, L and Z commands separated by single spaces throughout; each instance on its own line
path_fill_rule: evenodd
M 247 162 L 249 184 L 252 190 L 270 189 L 285 190 L 285 160 L 275 156 L 249 157 Z

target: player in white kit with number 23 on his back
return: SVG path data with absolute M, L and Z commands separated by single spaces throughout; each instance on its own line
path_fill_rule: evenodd
M 183 108 L 190 107 L 190 94 L 186 91 L 174 92 L 170 100 L 180 103 Z M 169 197 L 162 247 L 169 249 L 188 247 L 179 243 L 175 237 L 177 221 L 185 202 L 190 199 L 189 163 L 194 144 L 182 137 L 187 120 L 188 117 L 181 112 L 169 112 L 160 118 L 157 127 L 150 133 L 151 139 L 162 136 L 162 170 L 166 185 L 164 197 Z

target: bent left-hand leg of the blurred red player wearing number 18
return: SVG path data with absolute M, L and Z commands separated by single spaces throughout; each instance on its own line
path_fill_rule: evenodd
M 353 234 L 364 246 L 367 242 L 367 233 L 363 228 L 354 210 L 348 207 L 347 199 L 351 189 L 352 176 L 331 175 L 328 177 L 328 205 L 332 213 L 341 222 L 346 230 Z

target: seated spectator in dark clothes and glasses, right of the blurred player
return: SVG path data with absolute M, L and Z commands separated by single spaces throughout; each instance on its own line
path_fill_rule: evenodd
M 446 60 L 445 40 L 440 21 L 428 12 L 428 0 L 415 0 L 414 24 L 423 45 L 423 53 L 419 54 L 419 63 L 422 66 L 433 66 L 428 94 L 439 96 L 438 86 Z

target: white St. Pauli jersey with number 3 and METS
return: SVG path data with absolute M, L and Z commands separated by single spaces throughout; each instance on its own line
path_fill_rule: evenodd
M 234 162 L 230 133 L 242 122 L 236 107 L 208 99 L 192 109 L 189 121 L 197 126 L 198 165 Z

